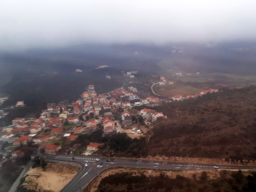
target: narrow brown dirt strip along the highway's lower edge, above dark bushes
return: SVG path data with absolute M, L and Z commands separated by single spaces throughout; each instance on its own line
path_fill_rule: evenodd
M 100 181 L 112 174 L 120 173 L 120 172 L 129 172 L 133 173 L 133 175 L 140 175 L 143 173 L 146 176 L 159 176 L 160 173 L 165 173 L 165 175 L 168 175 L 170 178 L 176 178 L 176 176 L 179 174 L 183 177 L 187 178 L 193 178 L 193 174 L 196 174 L 196 178 L 199 178 L 204 170 L 193 170 L 193 171 L 157 171 L 157 170 L 150 170 L 150 169 L 133 169 L 133 168 L 113 168 L 109 169 L 102 174 L 100 174 L 99 177 L 95 178 L 92 183 L 84 189 L 84 192 L 96 192 L 98 185 L 100 184 Z M 232 170 L 237 171 L 237 170 Z M 232 172 L 228 170 L 228 172 Z M 211 179 L 217 178 L 220 176 L 220 170 L 211 170 L 211 171 L 205 171 L 207 173 L 207 176 Z M 243 171 L 245 173 L 245 170 Z

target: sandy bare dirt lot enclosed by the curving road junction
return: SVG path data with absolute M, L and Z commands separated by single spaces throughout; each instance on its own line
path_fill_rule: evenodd
M 22 184 L 28 189 L 34 189 L 41 192 L 59 192 L 78 172 L 79 168 L 67 165 L 48 162 L 46 171 L 42 168 L 35 168 L 28 171 L 28 177 Z M 36 174 L 40 174 L 37 178 Z

